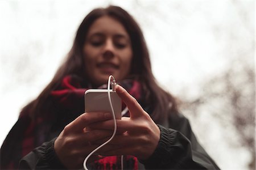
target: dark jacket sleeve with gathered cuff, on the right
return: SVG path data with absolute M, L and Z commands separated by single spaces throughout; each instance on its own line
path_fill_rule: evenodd
M 158 147 L 150 158 L 141 160 L 146 169 L 219 169 L 197 142 L 187 118 L 176 114 L 169 123 L 169 128 L 158 125 Z

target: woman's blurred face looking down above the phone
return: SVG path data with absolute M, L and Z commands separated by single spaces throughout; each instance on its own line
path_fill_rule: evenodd
M 108 83 L 109 75 L 120 81 L 130 72 L 130 37 L 123 25 L 110 16 L 102 16 L 91 25 L 83 54 L 86 75 L 93 85 Z

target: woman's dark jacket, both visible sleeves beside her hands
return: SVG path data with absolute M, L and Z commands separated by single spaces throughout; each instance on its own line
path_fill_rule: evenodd
M 219 169 L 205 152 L 182 114 L 171 114 L 160 128 L 160 141 L 147 160 L 139 160 L 140 169 Z M 60 133 L 55 132 L 55 133 Z M 20 161 L 21 169 L 65 169 L 53 149 L 55 138 L 35 148 Z

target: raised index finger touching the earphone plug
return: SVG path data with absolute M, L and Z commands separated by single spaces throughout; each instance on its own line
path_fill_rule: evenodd
M 127 105 L 129 109 L 131 118 L 140 117 L 144 114 L 144 110 L 141 105 L 139 105 L 138 101 L 131 96 L 123 87 L 117 85 L 115 87 L 115 91 L 118 96 L 123 100 L 123 102 Z

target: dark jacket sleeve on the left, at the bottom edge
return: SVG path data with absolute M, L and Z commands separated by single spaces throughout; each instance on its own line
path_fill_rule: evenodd
M 66 169 L 54 150 L 54 141 L 45 142 L 35 148 L 19 162 L 19 169 Z

